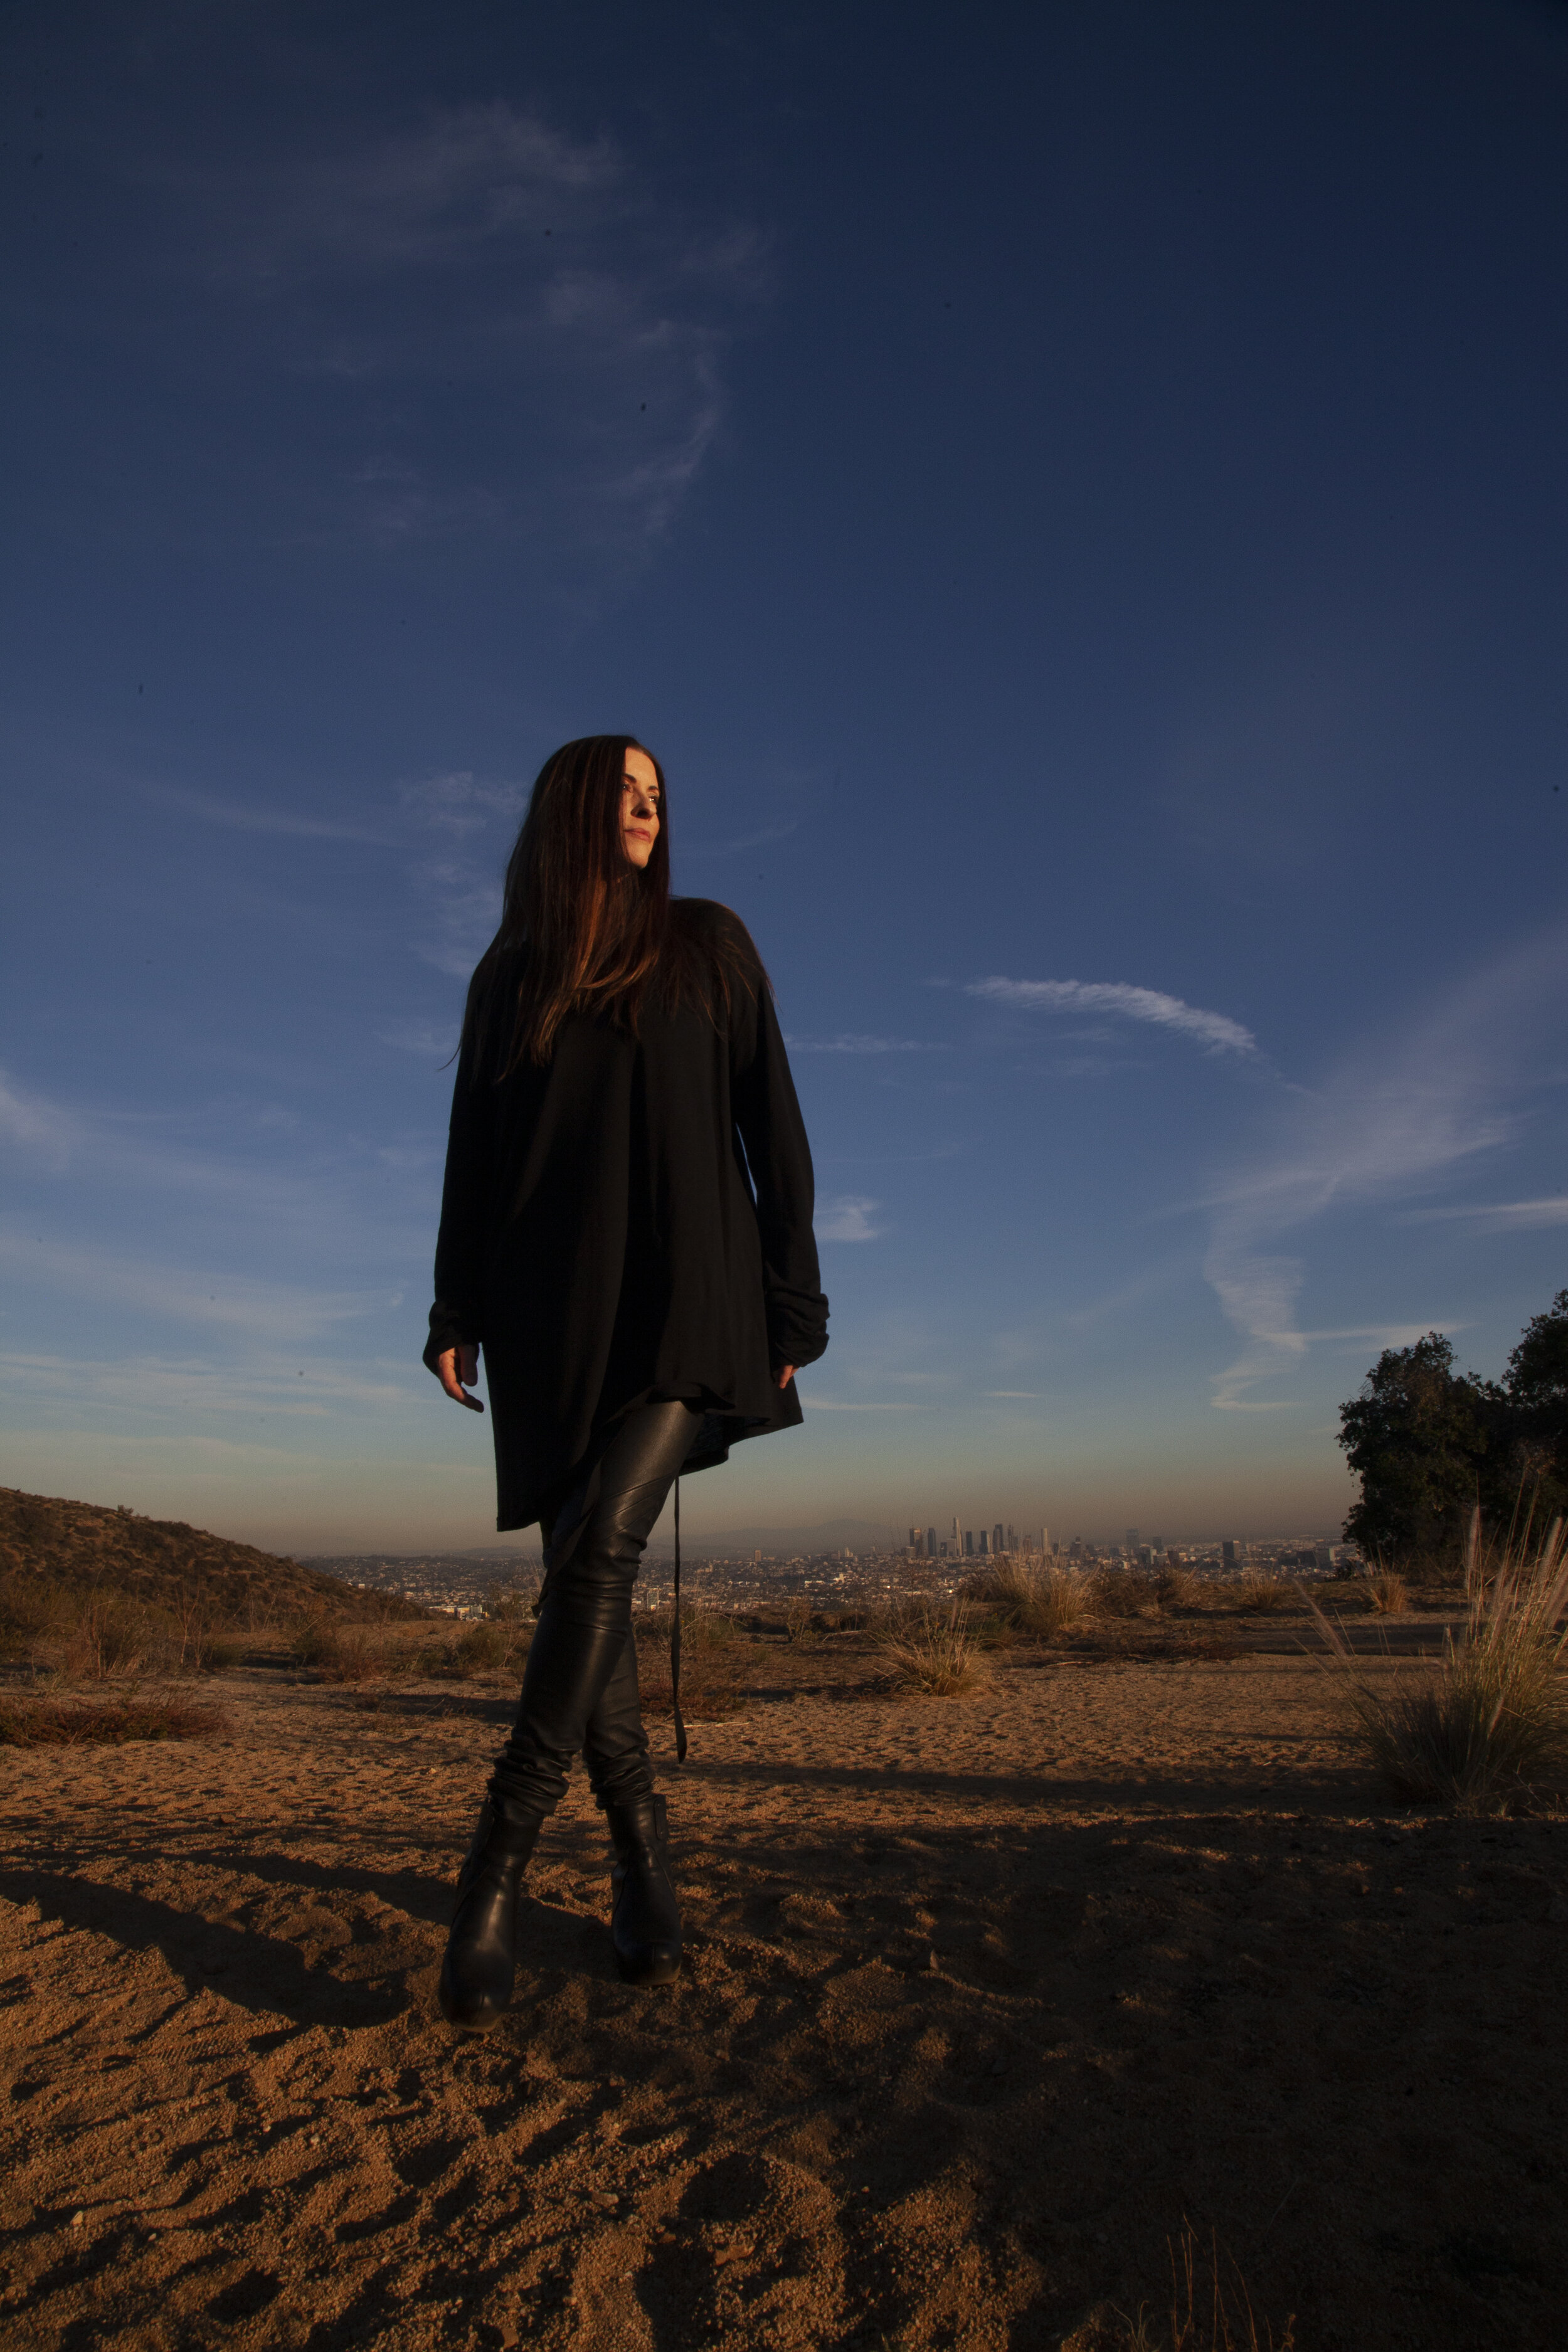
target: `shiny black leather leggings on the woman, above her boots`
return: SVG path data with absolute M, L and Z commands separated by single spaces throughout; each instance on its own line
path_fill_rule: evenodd
M 522 1677 L 512 1736 L 491 1790 L 550 1813 L 583 1752 L 595 1797 L 651 1795 L 649 1736 L 637 1700 L 632 1585 L 701 1414 L 642 1404 L 574 1477 L 545 1529 L 545 1597 Z

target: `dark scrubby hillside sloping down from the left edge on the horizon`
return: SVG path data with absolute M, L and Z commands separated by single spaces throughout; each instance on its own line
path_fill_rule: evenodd
M 249 1543 L 226 1543 L 183 1519 L 143 1519 L 125 1508 L 0 1486 L 0 1578 L 9 1576 L 40 1576 L 73 1590 L 110 1585 L 158 1606 L 197 1585 L 230 1623 L 299 1616 L 313 1606 L 362 1611 L 367 1602 L 339 1576 L 256 1552 Z M 428 1613 L 383 1592 L 376 1609 L 409 1618 Z

